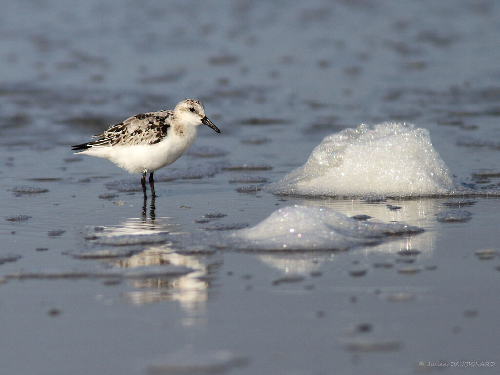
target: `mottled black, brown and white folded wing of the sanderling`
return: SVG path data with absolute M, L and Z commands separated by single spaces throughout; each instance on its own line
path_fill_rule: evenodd
M 139 113 L 128 117 L 123 122 L 110 126 L 97 138 L 87 143 L 89 147 L 108 147 L 123 144 L 152 144 L 163 138 L 172 119 L 173 112 L 161 110 L 151 113 Z

